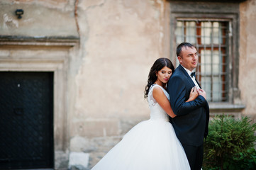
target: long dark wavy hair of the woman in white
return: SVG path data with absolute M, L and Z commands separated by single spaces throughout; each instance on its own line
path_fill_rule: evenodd
M 150 86 L 154 84 L 155 81 L 157 81 L 156 73 L 165 66 L 169 69 L 172 69 L 172 73 L 174 72 L 174 66 L 172 62 L 167 58 L 159 58 L 152 65 L 150 74 L 148 74 L 148 84 L 145 86 L 144 98 L 148 98 L 148 91 L 150 91 Z

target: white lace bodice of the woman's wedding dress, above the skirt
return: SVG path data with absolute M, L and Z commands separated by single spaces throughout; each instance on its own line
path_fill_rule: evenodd
M 155 101 L 155 98 L 152 95 L 152 91 L 156 86 L 159 86 L 159 85 L 153 84 L 150 87 L 150 91 L 148 92 L 148 103 L 150 106 L 150 119 L 169 121 L 169 117 L 167 113 L 165 113 L 164 109 L 161 108 L 161 106 L 157 103 L 157 101 Z M 162 86 L 159 86 L 159 87 L 162 89 L 162 91 L 164 91 L 165 96 L 167 96 L 169 100 L 169 94 L 167 93 L 167 91 L 164 88 L 162 88 Z

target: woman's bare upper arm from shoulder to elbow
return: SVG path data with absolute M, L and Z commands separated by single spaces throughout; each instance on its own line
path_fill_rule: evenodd
M 173 113 L 168 98 L 165 96 L 164 91 L 160 87 L 155 87 L 152 91 L 153 98 L 155 101 L 165 110 L 165 112 L 174 118 L 176 115 Z

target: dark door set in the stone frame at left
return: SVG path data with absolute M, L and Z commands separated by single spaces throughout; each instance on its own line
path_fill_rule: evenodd
M 53 169 L 53 72 L 0 72 L 0 169 Z

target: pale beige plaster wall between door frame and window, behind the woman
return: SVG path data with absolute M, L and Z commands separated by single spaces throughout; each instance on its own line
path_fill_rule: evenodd
M 84 0 L 77 5 L 82 63 L 69 115 L 70 151 L 93 166 L 133 125 L 150 116 L 143 98 L 162 57 L 164 1 Z

